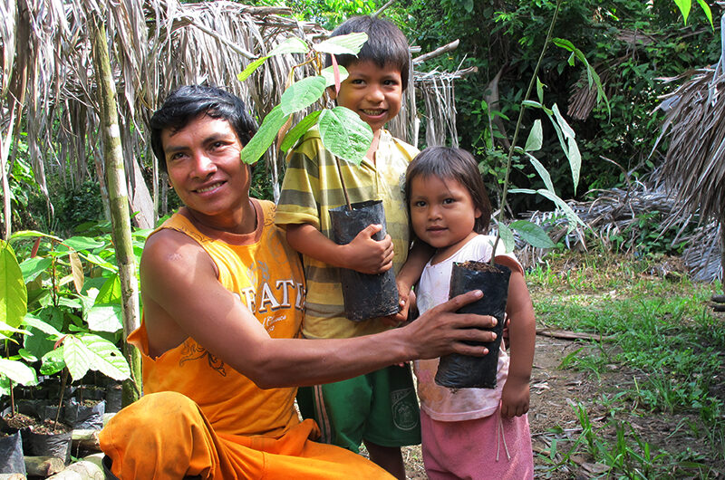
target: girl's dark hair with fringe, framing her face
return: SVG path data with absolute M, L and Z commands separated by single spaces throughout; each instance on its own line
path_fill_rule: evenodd
M 491 221 L 491 202 L 488 200 L 486 186 L 478 171 L 478 162 L 468 151 L 451 147 L 429 147 L 412 159 L 405 173 L 405 204 L 411 213 L 411 182 L 416 177 L 437 177 L 453 179 L 466 187 L 473 206 L 481 211 L 473 229 L 478 234 L 488 232 Z

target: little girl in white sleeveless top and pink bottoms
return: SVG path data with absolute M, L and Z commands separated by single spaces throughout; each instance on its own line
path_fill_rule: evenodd
M 484 234 L 491 206 L 476 160 L 462 149 L 424 149 L 408 167 L 405 183 L 412 229 L 436 248 L 415 291 L 422 313 L 448 300 L 453 262 L 490 259 L 495 237 Z M 534 475 L 527 418 L 536 336 L 534 309 L 516 257 L 505 254 L 501 246 L 496 263 L 511 269 L 506 308 L 509 352 L 502 342 L 497 388 L 440 387 L 434 381 L 438 359 L 414 363 L 423 462 L 433 480 L 520 480 Z

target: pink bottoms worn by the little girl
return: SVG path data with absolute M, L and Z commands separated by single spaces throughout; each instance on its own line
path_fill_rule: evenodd
M 420 410 L 423 463 L 430 480 L 534 478 L 528 417 L 433 420 Z

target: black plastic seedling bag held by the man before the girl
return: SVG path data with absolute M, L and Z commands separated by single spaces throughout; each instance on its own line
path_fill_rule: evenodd
M 478 343 L 488 348 L 483 357 L 470 357 L 452 353 L 440 358 L 436 383 L 451 389 L 495 389 L 498 372 L 498 348 L 504 329 L 504 313 L 508 298 L 508 279 L 511 271 L 504 265 L 496 265 L 498 272 L 485 271 L 488 264 L 481 262 L 454 263 L 450 274 L 449 297 L 455 297 L 471 290 L 483 292 L 483 298 L 469 303 L 459 310 L 461 313 L 491 315 L 498 320 L 488 331 L 496 332 L 496 340 Z

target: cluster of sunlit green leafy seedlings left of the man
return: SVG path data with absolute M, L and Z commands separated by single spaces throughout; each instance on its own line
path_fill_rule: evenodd
M 146 235 L 135 232 L 139 255 Z M 25 258 L 17 262 L 13 248 L 0 245 L 0 338 L 7 357 L 0 361 L 0 395 L 10 395 L 12 402 L 13 384 L 34 385 L 37 371 L 63 372 L 63 385 L 68 377 L 77 381 L 91 370 L 127 379 L 130 368 L 116 346 L 122 330 L 121 283 L 110 235 L 63 240 L 24 231 L 10 242 Z

